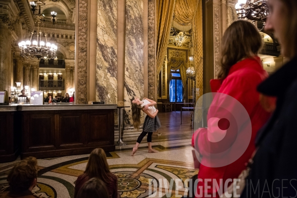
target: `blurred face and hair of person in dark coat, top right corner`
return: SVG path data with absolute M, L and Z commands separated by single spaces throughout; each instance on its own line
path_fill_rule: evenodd
M 265 30 L 274 33 L 282 54 L 291 59 L 297 55 L 297 0 L 269 0 L 268 6 Z

